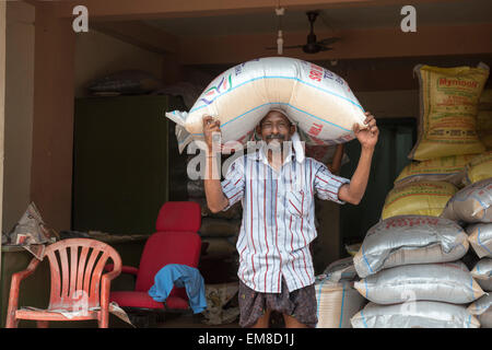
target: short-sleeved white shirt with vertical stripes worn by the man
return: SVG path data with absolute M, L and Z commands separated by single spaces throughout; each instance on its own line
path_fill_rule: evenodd
M 345 183 L 314 159 L 300 162 L 292 151 L 279 172 L 261 150 L 236 159 L 221 185 L 229 199 L 224 210 L 243 205 L 238 278 L 262 293 L 280 293 L 282 276 L 290 292 L 313 284 L 314 196 L 344 203 L 338 190 Z

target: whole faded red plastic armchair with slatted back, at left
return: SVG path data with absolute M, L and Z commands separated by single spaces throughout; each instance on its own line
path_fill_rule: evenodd
M 17 308 L 21 281 L 31 276 L 42 262 L 33 258 L 26 270 L 12 275 L 5 327 L 16 328 L 20 319 L 34 319 L 38 328 L 47 328 L 49 320 L 97 319 L 99 328 L 107 328 L 110 281 L 121 272 L 119 254 L 99 241 L 71 238 L 47 246 L 44 257 L 46 256 L 49 259 L 51 276 L 48 308 L 44 311 Z M 114 262 L 114 269 L 103 275 L 109 258 Z M 52 312 L 55 310 L 82 311 L 82 315 L 67 318 L 60 313 Z

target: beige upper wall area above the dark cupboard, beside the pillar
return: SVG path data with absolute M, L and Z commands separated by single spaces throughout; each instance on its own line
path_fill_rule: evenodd
M 91 23 L 89 23 L 91 26 Z M 92 31 L 77 34 L 75 97 L 86 95 L 84 86 L 93 79 L 119 70 L 136 69 L 162 78 L 162 56 Z

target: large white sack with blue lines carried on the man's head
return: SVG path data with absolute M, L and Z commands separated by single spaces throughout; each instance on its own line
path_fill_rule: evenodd
M 166 117 L 178 126 L 179 152 L 203 140 L 202 117 L 220 119 L 222 142 L 250 139 L 254 128 L 271 109 L 283 110 L 308 144 L 335 144 L 354 138 L 363 127 L 364 109 L 347 82 L 326 68 L 289 57 L 266 57 L 227 69 L 216 77 L 189 110 Z

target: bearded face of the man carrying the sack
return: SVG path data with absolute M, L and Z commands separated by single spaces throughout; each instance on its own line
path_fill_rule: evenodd
M 274 142 L 279 143 L 280 147 L 283 145 L 284 141 L 291 139 L 294 131 L 295 127 L 278 110 L 270 110 L 257 127 L 258 135 L 267 144 Z

